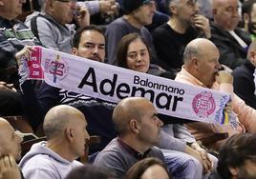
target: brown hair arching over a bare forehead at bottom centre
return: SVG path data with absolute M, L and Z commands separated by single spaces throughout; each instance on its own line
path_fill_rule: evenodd
M 148 157 L 143 160 L 140 160 L 133 167 L 131 167 L 126 172 L 124 179 L 140 179 L 140 177 L 142 176 L 146 169 L 149 169 L 150 167 L 155 165 L 162 167 L 167 174 L 169 173 L 164 164 L 160 161 L 160 159 Z M 169 178 L 171 177 L 169 176 Z

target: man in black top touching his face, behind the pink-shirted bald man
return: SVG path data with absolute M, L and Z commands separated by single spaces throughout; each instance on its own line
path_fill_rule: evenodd
M 197 37 L 210 38 L 210 25 L 208 19 L 199 14 L 196 0 L 172 0 L 169 10 L 169 21 L 154 30 L 152 36 L 160 67 L 179 71 L 185 46 Z

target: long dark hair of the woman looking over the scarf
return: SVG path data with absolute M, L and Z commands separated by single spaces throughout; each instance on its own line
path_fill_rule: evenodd
M 128 47 L 130 46 L 130 44 L 132 42 L 134 42 L 137 39 L 141 40 L 142 43 L 145 44 L 145 46 L 148 50 L 149 56 L 150 56 L 150 50 L 148 48 L 148 44 L 145 41 L 145 39 L 142 38 L 138 33 L 129 33 L 121 38 L 121 40 L 117 46 L 117 66 L 118 67 L 128 69 L 128 67 L 127 67 Z

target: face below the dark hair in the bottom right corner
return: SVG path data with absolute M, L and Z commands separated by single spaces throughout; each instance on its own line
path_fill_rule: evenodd
M 236 179 L 255 179 L 256 178 L 256 161 L 245 160 L 245 164 L 237 168 L 237 175 L 234 177 Z

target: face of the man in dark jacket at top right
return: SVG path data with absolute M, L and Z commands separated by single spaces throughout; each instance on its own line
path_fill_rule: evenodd
M 224 30 L 234 30 L 239 23 L 237 0 L 219 0 L 218 8 L 213 10 L 214 22 Z

